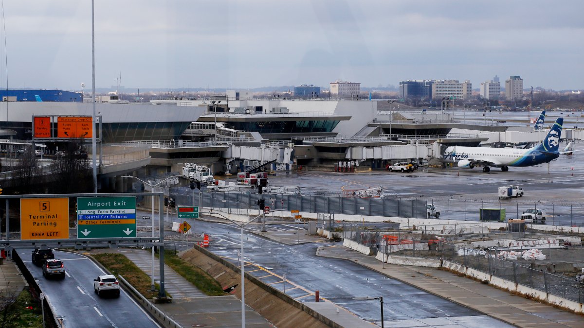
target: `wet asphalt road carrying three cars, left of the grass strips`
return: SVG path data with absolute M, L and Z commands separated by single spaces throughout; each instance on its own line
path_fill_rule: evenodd
M 40 266 L 30 259 L 32 249 L 18 253 L 27 269 L 47 295 L 56 316 L 65 327 L 160 327 L 133 299 L 121 290 L 119 298 L 100 297 L 93 292 L 93 279 L 105 274 L 87 257 L 55 250 L 55 258 L 65 263 L 66 277 L 43 277 Z

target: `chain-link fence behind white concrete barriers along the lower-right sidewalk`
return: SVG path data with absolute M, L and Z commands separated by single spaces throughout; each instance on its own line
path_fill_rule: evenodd
M 572 301 L 579 303 L 584 301 L 584 283 L 576 281 L 575 278 L 501 259 L 497 255 L 498 250 L 476 250 L 451 243 L 441 243 L 440 246 L 444 260 Z

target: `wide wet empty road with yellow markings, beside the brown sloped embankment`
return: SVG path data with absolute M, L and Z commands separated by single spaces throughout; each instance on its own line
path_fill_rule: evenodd
M 280 229 L 285 227 L 279 226 Z M 240 247 L 238 228 L 197 221 L 196 229 L 205 231 L 214 239 L 208 250 L 237 263 Z M 286 286 L 286 294 L 300 302 L 314 301 L 313 293 L 319 290 L 325 301 L 343 306 L 365 320 L 378 322 L 379 303 L 356 301 L 353 298 L 384 296 L 385 320 L 392 320 L 396 327 L 400 323 L 406 324 L 408 320 L 432 318 L 444 318 L 450 324 L 462 327 L 507 327 L 499 320 L 349 261 L 317 257 L 316 249 L 322 243 L 286 246 L 249 233 L 245 234 L 244 240 L 245 260 L 249 262 L 246 272 L 281 291 Z M 416 323 L 422 324 L 418 320 Z

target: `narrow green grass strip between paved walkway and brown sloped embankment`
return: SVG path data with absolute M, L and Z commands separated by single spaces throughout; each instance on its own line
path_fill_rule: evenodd
M 204 294 L 208 296 L 225 295 L 219 282 L 200 267 L 181 259 L 175 254 L 169 254 L 168 252 L 164 255 L 164 263 L 195 287 L 199 288 Z

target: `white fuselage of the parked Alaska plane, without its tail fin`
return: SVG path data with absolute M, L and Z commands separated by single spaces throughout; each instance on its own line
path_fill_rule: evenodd
M 454 153 L 453 153 L 454 152 Z M 486 147 L 448 147 L 444 151 L 442 161 L 445 163 L 458 163 L 460 160 L 470 160 L 477 163 L 477 166 L 488 166 L 502 168 L 504 166 L 533 166 L 549 163 L 558 158 L 559 153 L 542 152 L 535 148 L 486 148 Z

